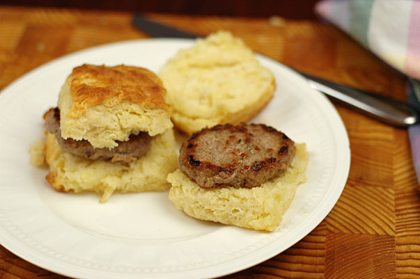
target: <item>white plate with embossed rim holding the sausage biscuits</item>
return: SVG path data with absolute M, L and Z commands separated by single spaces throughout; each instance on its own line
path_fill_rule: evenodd
M 47 171 L 29 164 L 42 138 L 42 114 L 56 106 L 73 67 L 138 65 L 159 72 L 192 40 L 134 40 L 70 54 L 24 75 L 0 94 L 0 243 L 45 269 L 76 278 L 209 278 L 246 269 L 286 250 L 322 221 L 348 177 L 350 149 L 328 99 L 287 67 L 258 56 L 277 80 L 263 122 L 307 144 L 308 181 L 298 187 L 272 233 L 198 221 L 173 207 L 167 193 L 114 194 L 52 189 Z

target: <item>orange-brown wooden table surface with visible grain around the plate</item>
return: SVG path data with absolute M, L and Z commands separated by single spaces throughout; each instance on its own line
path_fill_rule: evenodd
M 206 35 L 226 29 L 309 74 L 405 100 L 405 80 L 333 26 L 268 18 L 150 17 Z M 0 88 L 52 59 L 147 38 L 130 13 L 0 6 Z M 283 253 L 229 278 L 419 278 L 420 193 L 405 129 L 336 105 L 350 136 L 348 182 L 328 216 Z M 63 278 L 0 246 L 0 278 Z

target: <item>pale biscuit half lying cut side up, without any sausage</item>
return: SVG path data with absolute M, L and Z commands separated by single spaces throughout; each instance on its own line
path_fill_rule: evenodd
M 174 125 L 187 134 L 246 122 L 272 99 L 275 81 L 244 42 L 219 31 L 178 51 L 162 70 Z

